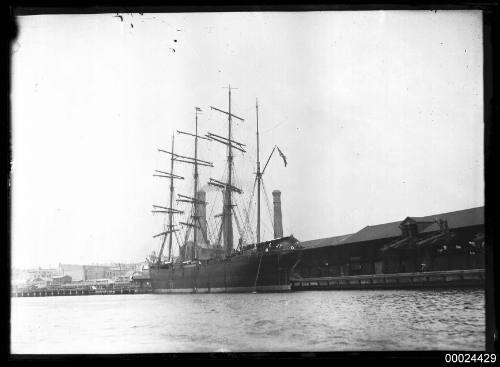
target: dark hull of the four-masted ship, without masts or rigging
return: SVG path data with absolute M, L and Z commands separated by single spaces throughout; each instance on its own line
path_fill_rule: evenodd
M 155 264 L 149 269 L 151 287 L 155 293 L 286 292 L 298 254 L 248 252 L 196 264 Z

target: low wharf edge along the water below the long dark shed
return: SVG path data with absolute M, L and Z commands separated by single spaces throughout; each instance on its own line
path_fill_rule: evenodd
M 396 289 L 437 287 L 483 287 L 484 269 L 292 278 L 292 291 L 341 289 Z

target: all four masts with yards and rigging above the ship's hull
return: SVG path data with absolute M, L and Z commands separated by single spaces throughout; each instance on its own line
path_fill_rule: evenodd
M 286 158 L 281 152 L 281 150 L 277 147 L 274 146 L 271 153 L 269 154 L 269 157 L 267 158 L 266 164 L 264 165 L 264 168 L 261 170 L 261 162 L 260 162 L 260 141 L 259 141 L 259 104 L 258 100 L 256 99 L 255 103 L 255 111 L 256 111 L 256 153 L 257 153 L 257 159 L 256 159 L 256 172 L 255 172 L 255 180 L 253 183 L 253 189 L 252 189 L 252 194 L 250 197 L 250 202 L 248 205 L 248 209 L 243 206 L 242 210 L 245 214 L 245 216 L 241 215 L 241 212 L 237 208 L 237 204 L 235 202 L 235 199 L 233 198 L 233 193 L 236 194 L 242 194 L 243 190 L 239 187 L 236 186 L 235 182 L 235 177 L 234 177 L 234 172 L 235 172 L 235 167 L 234 167 L 234 151 L 238 151 L 241 153 L 246 153 L 246 145 L 234 140 L 233 138 L 233 119 L 239 120 L 244 122 L 245 119 L 242 117 L 237 116 L 232 112 L 232 106 L 231 106 L 231 92 L 235 88 L 232 88 L 230 85 L 228 87 L 225 87 L 228 89 L 228 110 L 224 111 L 220 108 L 210 106 L 210 109 L 213 111 L 216 111 L 218 113 L 224 114 L 227 116 L 227 137 L 215 134 L 213 132 L 207 132 L 205 135 L 200 135 L 198 133 L 198 116 L 201 114 L 202 110 L 199 107 L 195 107 L 195 130 L 194 133 L 192 132 L 187 132 L 187 131 L 180 131 L 177 130 L 177 133 L 179 135 L 184 135 L 187 137 L 191 137 L 194 140 L 194 157 L 188 157 L 185 155 L 180 155 L 179 153 L 176 153 L 174 151 L 174 136 L 172 136 L 172 148 L 171 151 L 163 150 L 163 149 L 158 149 L 159 152 L 168 154 L 170 156 L 170 172 L 165 172 L 165 171 L 160 171 L 156 170 L 154 176 L 156 177 L 161 177 L 161 178 L 168 178 L 170 180 L 170 196 L 169 196 L 169 206 L 159 206 L 159 205 L 153 205 L 153 213 L 163 213 L 163 214 L 168 214 L 168 224 L 164 225 L 164 231 L 153 236 L 154 238 L 157 237 L 162 237 L 162 242 L 161 242 L 161 247 L 160 247 L 160 252 L 157 257 L 157 263 L 160 264 L 162 261 L 162 256 L 164 253 L 164 247 L 168 239 L 168 255 L 166 263 L 173 263 L 174 262 L 174 256 L 173 256 L 173 249 L 172 249 L 172 244 L 173 244 L 173 238 L 175 236 L 179 248 L 179 258 L 185 262 L 193 262 L 197 261 L 200 259 L 200 256 L 198 256 L 198 249 L 200 246 L 200 241 L 203 243 L 207 244 L 209 248 L 216 250 L 220 249 L 221 242 L 223 240 L 223 256 L 222 257 L 230 257 L 235 249 L 234 249 L 234 244 L 233 244 L 233 219 L 235 221 L 236 227 L 238 229 L 238 232 L 240 234 L 240 238 L 238 241 L 238 251 L 241 251 L 243 247 L 248 248 L 248 246 L 244 246 L 246 243 L 252 241 L 250 237 L 254 238 L 256 240 L 254 243 L 259 244 L 261 242 L 261 190 L 264 189 L 264 194 L 266 198 L 266 204 L 269 210 L 270 218 L 271 218 L 271 224 L 274 228 L 274 223 L 271 215 L 271 210 L 270 210 L 270 203 L 269 199 L 267 197 L 265 187 L 264 187 L 264 182 L 263 182 L 263 174 L 266 170 L 267 165 L 269 164 L 269 161 L 277 149 L 279 154 L 284 160 L 285 166 L 286 166 Z M 199 191 L 199 186 L 200 186 L 200 180 L 199 180 L 199 167 L 214 167 L 214 164 L 212 162 L 202 160 L 198 157 L 198 142 L 199 139 L 202 139 L 207 142 L 217 142 L 220 144 L 223 144 L 226 146 L 227 149 L 227 156 L 226 156 L 226 172 L 227 176 L 222 179 L 215 179 L 215 178 L 209 178 L 208 185 L 211 187 L 214 187 L 216 190 L 220 190 L 222 192 L 222 213 L 221 214 L 216 214 L 214 216 L 214 219 L 220 218 L 220 225 L 217 230 L 217 236 L 216 238 L 212 238 L 212 241 L 210 241 L 210 236 L 208 233 L 208 226 L 207 223 L 203 223 L 202 221 L 205 220 L 204 216 L 202 217 L 200 215 L 200 212 L 205 213 L 205 209 L 200 210 L 200 207 L 206 207 L 207 202 L 205 201 L 205 196 L 204 193 L 203 195 L 200 195 Z M 194 173 L 193 173 L 193 183 L 194 183 L 194 188 L 193 188 L 193 195 L 188 196 L 188 195 L 182 195 L 182 194 L 177 194 L 177 199 L 175 199 L 175 202 L 177 205 L 179 203 L 187 203 L 190 204 L 190 213 L 189 216 L 187 217 L 186 221 L 177 221 L 177 225 L 174 223 L 174 216 L 176 215 L 182 215 L 184 214 L 183 210 L 176 209 L 174 207 L 174 181 L 175 180 L 184 180 L 184 177 L 177 175 L 174 173 L 174 163 L 179 162 L 179 163 L 184 163 L 184 164 L 191 164 L 194 166 Z M 253 202 L 253 197 L 255 194 L 255 188 L 257 188 L 257 218 L 256 218 L 256 225 L 255 225 L 255 236 L 253 235 L 253 229 L 252 225 L 250 223 L 251 221 L 251 204 Z M 239 214 L 239 215 L 237 215 Z M 184 236 L 181 236 L 179 238 L 178 232 L 181 231 L 181 229 L 178 227 L 181 226 L 184 229 Z M 192 236 L 192 242 L 188 241 L 191 235 L 191 232 L 193 233 Z M 246 233 L 245 233 L 246 232 Z M 250 235 L 248 235 L 250 233 Z M 215 234 L 215 233 L 213 233 Z M 275 238 L 276 238 L 276 231 L 274 231 Z M 282 236 L 282 234 L 281 234 Z M 200 238 L 201 237 L 201 238 Z M 212 236 L 213 237 L 213 236 Z M 249 241 L 250 240 L 250 241 Z M 253 242 L 253 241 L 252 241 Z M 190 248 L 188 246 L 188 243 L 191 244 Z M 256 245 L 252 245 L 252 247 L 257 247 Z M 215 252 L 216 254 L 218 252 Z

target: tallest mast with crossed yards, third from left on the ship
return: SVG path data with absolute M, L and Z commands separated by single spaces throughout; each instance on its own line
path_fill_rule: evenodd
M 227 180 L 225 183 L 222 183 L 218 180 L 210 179 L 209 184 L 213 186 L 217 186 L 219 188 L 223 189 L 223 210 L 222 210 L 222 232 L 224 234 L 224 247 L 226 249 L 226 256 L 230 256 L 232 251 L 233 251 L 233 218 L 232 218 L 232 209 L 233 209 L 233 203 L 232 203 L 232 192 L 236 191 L 241 194 L 241 190 L 238 189 L 237 187 L 233 186 L 232 183 L 232 171 L 233 171 L 233 151 L 232 149 L 237 149 L 242 152 L 245 152 L 245 150 L 242 148 L 244 146 L 241 143 L 238 143 L 232 139 L 232 118 L 236 118 L 238 120 L 244 121 L 241 117 L 238 117 L 234 114 L 231 113 L 231 85 L 228 87 L 229 89 L 229 107 L 228 107 L 228 112 L 222 111 L 218 108 L 210 106 L 211 109 L 219 111 L 221 113 L 224 113 L 227 115 L 227 120 L 228 120 L 228 134 L 227 138 L 224 138 L 222 136 L 218 136 L 215 134 L 209 133 L 207 136 L 211 138 L 212 140 L 215 140 L 219 143 L 227 145 L 227 171 L 228 171 L 228 176 Z

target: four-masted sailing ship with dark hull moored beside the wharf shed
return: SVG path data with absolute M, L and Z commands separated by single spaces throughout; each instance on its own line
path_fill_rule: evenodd
M 227 116 L 227 138 L 221 135 L 198 133 L 198 115 L 201 109 L 195 107 L 195 131 L 177 131 L 178 134 L 194 138 L 194 157 L 180 155 L 174 151 L 174 136 L 172 135 L 171 151 L 159 149 L 170 156 L 170 172 L 155 171 L 154 176 L 170 180 L 169 206 L 153 205 L 153 213 L 168 215 L 168 224 L 164 231 L 153 236 L 161 237 L 161 247 L 158 256 L 150 258 L 149 273 L 153 292 L 155 293 L 220 293 L 220 292 L 279 292 L 290 291 L 290 276 L 300 261 L 299 241 L 293 235 L 283 236 L 281 219 L 280 192 L 273 191 L 274 204 L 274 238 L 261 241 L 261 186 L 262 176 L 273 153 L 286 158 L 281 150 L 275 146 L 267 159 L 264 169 L 260 167 L 259 151 L 259 120 L 258 101 L 256 101 L 256 137 L 257 137 L 257 170 L 255 184 L 257 186 L 257 221 L 255 243 L 244 244 L 240 237 L 237 248 L 233 246 L 233 220 L 239 227 L 235 211 L 233 195 L 242 194 L 242 190 L 234 182 L 234 154 L 237 150 L 245 153 L 245 144 L 233 139 L 233 119 L 244 121 L 243 118 L 231 112 L 231 86 L 228 88 L 228 111 L 210 106 L 211 110 Z M 199 190 L 199 168 L 214 167 L 212 162 L 198 157 L 198 141 L 217 142 L 227 149 L 227 176 L 225 182 L 210 178 L 208 185 L 222 191 L 222 213 L 215 217 L 220 218 L 217 240 L 210 244 L 207 236 L 206 195 Z M 184 180 L 184 177 L 174 173 L 175 163 L 185 163 L 194 166 L 193 195 L 178 194 L 177 203 L 188 203 L 190 213 L 186 221 L 174 224 L 174 216 L 182 216 L 184 211 L 174 207 L 174 182 Z M 253 197 L 253 195 L 252 195 Z M 173 257 L 172 245 L 174 235 L 179 242 L 178 233 L 184 230 L 184 241 L 179 244 L 179 256 Z M 192 236 L 191 236 L 192 234 Z M 192 240 L 189 240 L 192 237 Z M 163 256 L 168 240 L 168 255 Z M 221 240 L 223 240 L 221 242 Z

